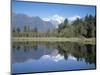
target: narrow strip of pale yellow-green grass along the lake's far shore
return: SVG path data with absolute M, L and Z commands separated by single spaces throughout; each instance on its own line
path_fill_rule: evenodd
M 13 37 L 13 42 L 37 41 L 37 42 L 80 42 L 95 44 L 95 38 L 64 38 L 64 37 Z

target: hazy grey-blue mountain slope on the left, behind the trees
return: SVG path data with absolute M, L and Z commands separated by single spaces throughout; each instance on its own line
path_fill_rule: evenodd
M 50 21 L 44 21 L 40 17 L 30 17 L 25 14 L 12 13 L 12 27 L 19 27 L 23 29 L 24 26 L 30 26 L 30 28 L 37 28 L 39 32 L 45 32 L 55 29 L 55 25 Z

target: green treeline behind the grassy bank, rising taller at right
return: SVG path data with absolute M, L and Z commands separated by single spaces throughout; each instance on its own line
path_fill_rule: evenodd
M 87 15 L 69 22 L 66 18 L 59 24 L 57 29 L 39 32 L 37 28 L 25 26 L 23 30 L 19 27 L 12 29 L 13 37 L 96 37 L 96 16 Z

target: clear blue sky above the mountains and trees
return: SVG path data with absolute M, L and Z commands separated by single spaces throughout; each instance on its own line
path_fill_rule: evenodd
M 12 2 L 12 12 L 22 13 L 28 16 L 39 16 L 44 20 L 49 18 L 69 18 L 84 17 L 88 14 L 95 15 L 95 6 L 36 3 L 36 2 Z

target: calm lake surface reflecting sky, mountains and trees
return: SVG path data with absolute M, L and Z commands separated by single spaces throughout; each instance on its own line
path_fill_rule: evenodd
M 95 69 L 95 48 L 80 43 L 14 42 L 12 73 Z

